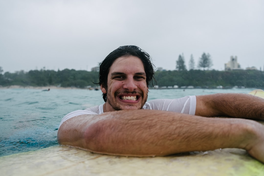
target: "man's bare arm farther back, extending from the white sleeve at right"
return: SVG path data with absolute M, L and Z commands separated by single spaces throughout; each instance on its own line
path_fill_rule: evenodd
M 196 96 L 195 115 L 264 120 L 264 99 L 249 94 L 238 93 Z

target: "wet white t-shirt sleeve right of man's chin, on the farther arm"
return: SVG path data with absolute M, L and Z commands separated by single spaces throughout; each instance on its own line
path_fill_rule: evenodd
M 196 96 L 185 96 L 177 99 L 155 99 L 145 103 L 143 109 L 180 112 L 195 115 Z

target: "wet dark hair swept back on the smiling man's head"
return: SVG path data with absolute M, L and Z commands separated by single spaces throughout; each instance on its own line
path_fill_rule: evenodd
M 117 58 L 122 56 L 138 57 L 144 65 L 144 69 L 147 77 L 146 78 L 147 86 L 150 83 L 152 83 L 152 86 L 154 87 L 153 80 L 157 84 L 154 78 L 154 68 L 153 68 L 154 65 L 152 63 L 149 54 L 134 45 L 120 46 L 114 51 L 112 51 L 108 56 L 106 56 L 106 58 L 100 63 L 99 83 L 97 84 L 102 85 L 107 91 L 107 76 L 109 74 L 110 67 Z M 106 102 L 106 95 L 107 93 L 103 93 L 103 100 L 105 102 Z

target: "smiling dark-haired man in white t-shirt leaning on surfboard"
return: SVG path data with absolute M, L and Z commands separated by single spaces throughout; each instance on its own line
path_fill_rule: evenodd
M 121 46 L 101 63 L 104 104 L 66 115 L 58 142 L 96 153 L 155 156 L 241 148 L 264 162 L 264 99 L 213 94 L 149 102 L 154 70 L 147 53 Z M 212 118 L 229 116 L 236 118 Z M 239 117 L 239 118 L 237 118 Z

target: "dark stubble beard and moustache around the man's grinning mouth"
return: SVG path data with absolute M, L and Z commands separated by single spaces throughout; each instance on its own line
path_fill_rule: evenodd
M 111 92 L 111 91 L 110 91 Z M 122 92 L 122 93 L 138 93 L 140 94 L 140 97 L 142 98 L 142 104 L 140 105 L 140 107 L 138 107 L 137 109 L 142 109 L 142 107 L 144 106 L 144 104 L 147 102 L 147 99 L 148 99 L 148 92 L 146 93 L 146 96 L 144 97 L 143 93 L 142 92 L 136 92 L 136 91 L 133 91 L 133 92 Z M 117 96 L 117 94 L 120 94 L 120 92 L 115 92 L 114 94 L 114 99 L 115 97 Z M 115 110 L 115 111 L 120 111 L 120 110 L 124 110 L 121 108 L 121 106 L 119 104 L 117 104 L 116 102 L 112 101 L 111 97 L 109 97 L 109 94 L 107 94 L 106 96 L 106 101 L 110 104 L 110 106 Z M 129 104 L 128 106 L 135 106 L 133 104 Z

